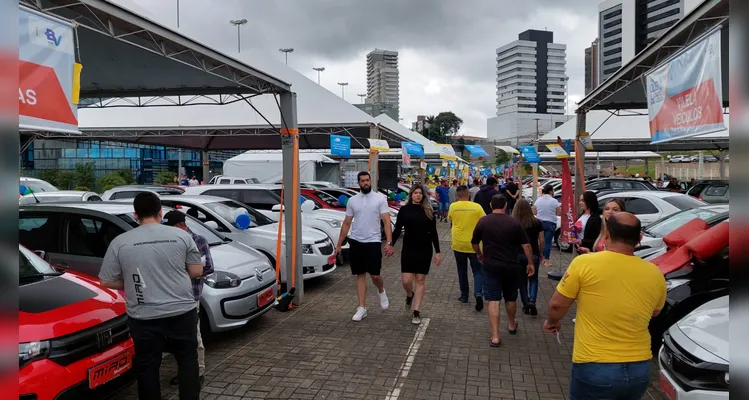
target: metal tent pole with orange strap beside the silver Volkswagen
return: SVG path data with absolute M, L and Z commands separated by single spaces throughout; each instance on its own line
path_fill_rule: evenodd
M 302 213 L 299 185 L 299 129 L 296 113 L 296 93 L 281 93 L 281 151 L 283 153 L 283 212 L 286 223 L 286 287 L 296 289 L 293 304 L 304 299 L 302 276 Z

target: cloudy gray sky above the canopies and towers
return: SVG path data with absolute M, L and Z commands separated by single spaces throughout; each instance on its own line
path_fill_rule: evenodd
M 242 48 L 264 49 L 346 100 L 366 93 L 366 54 L 396 50 L 400 67 L 400 116 L 404 125 L 419 114 L 453 111 L 462 133 L 486 136 L 495 112 L 495 49 L 526 29 L 554 32 L 567 45 L 570 102 L 584 93 L 584 49 L 597 33 L 600 0 L 115 0 L 176 27 L 226 53 L 237 51 L 230 19 L 246 18 Z M 571 107 L 570 109 L 574 109 Z

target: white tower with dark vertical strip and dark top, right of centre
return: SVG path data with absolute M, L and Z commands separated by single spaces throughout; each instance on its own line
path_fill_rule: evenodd
M 554 33 L 527 30 L 497 49 L 497 116 L 487 120 L 487 137 L 520 143 L 569 119 L 567 46 Z

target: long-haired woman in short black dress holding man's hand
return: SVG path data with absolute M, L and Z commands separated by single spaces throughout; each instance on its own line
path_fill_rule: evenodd
M 406 290 L 406 309 L 413 308 L 411 323 L 421 323 L 419 309 L 426 291 L 426 277 L 432 264 L 432 247 L 434 247 L 434 265 L 440 265 L 440 244 L 437 237 L 437 220 L 429 199 L 424 195 L 426 190 L 421 185 L 414 185 L 408 194 L 408 202 L 398 211 L 398 219 L 393 231 L 393 245 L 403 232 L 401 249 L 401 281 Z

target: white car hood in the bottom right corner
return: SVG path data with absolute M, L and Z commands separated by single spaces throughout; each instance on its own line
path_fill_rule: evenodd
M 697 358 L 728 364 L 728 296 L 709 301 L 676 323 L 669 333 Z M 679 333 L 682 338 L 679 338 Z

